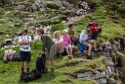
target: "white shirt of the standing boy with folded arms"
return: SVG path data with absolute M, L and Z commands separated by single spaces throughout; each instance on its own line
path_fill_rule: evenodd
M 31 36 L 20 36 L 18 42 L 27 42 L 27 41 L 32 41 Z M 28 45 L 23 45 L 20 46 L 20 50 L 24 52 L 29 52 L 30 51 L 30 44 Z

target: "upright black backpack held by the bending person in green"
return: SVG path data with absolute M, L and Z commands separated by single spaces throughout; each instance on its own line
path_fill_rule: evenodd
M 41 57 L 38 57 L 36 60 L 36 69 L 40 72 L 45 72 L 45 61 L 46 61 L 46 55 L 42 54 Z

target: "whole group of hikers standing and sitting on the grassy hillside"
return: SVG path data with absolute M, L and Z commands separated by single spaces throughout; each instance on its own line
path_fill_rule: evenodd
M 60 31 L 54 33 L 54 38 L 51 38 L 48 34 L 44 33 L 44 30 L 38 29 L 35 38 L 42 40 L 43 46 L 41 54 L 46 53 L 45 72 L 48 71 L 48 61 L 51 61 L 51 72 L 54 72 L 54 58 L 62 56 L 64 50 L 66 51 L 68 58 L 73 58 L 73 45 L 77 45 L 79 42 L 81 45 L 87 47 L 88 56 L 87 59 L 91 59 L 91 50 L 94 48 L 95 52 L 98 52 L 96 47 L 97 37 L 101 34 L 102 28 L 98 25 L 95 18 L 93 18 L 86 28 L 77 36 L 77 32 L 74 30 L 74 24 L 69 24 L 68 29 L 63 30 L 63 35 Z M 34 38 L 34 39 L 35 39 Z M 31 36 L 28 35 L 27 29 L 22 30 L 22 35 L 19 37 L 18 44 L 21 51 L 21 73 L 24 73 L 24 62 L 26 61 L 27 72 L 30 71 L 30 44 L 32 43 Z

